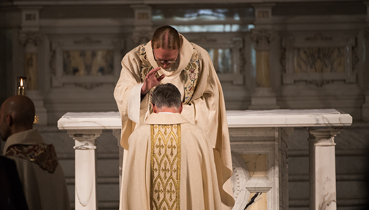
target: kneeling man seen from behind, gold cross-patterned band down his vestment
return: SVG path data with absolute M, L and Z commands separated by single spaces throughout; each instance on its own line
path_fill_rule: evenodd
M 206 133 L 180 114 L 180 91 L 157 85 L 152 106 L 128 139 L 120 209 L 221 209 L 213 149 Z

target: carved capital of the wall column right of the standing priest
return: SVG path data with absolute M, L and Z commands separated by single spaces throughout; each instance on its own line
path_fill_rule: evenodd
M 256 43 L 257 51 L 269 51 L 270 43 L 277 37 L 277 32 L 270 29 L 253 29 L 250 38 Z

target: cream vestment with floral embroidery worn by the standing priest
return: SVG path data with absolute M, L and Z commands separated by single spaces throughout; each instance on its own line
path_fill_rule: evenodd
M 173 72 L 160 69 L 157 76 L 165 74 L 166 77 L 160 83 L 170 82 L 177 86 L 184 99 L 182 115 L 208 134 L 209 143 L 215 149 L 221 200 L 224 209 L 230 209 L 234 205 L 230 181 L 232 159 L 220 82 L 206 50 L 188 42 L 182 35 L 180 37 L 182 43 L 177 69 Z M 157 67 L 151 41 L 136 47 L 123 57 L 121 76 L 114 97 L 122 117 L 121 145 L 125 150 L 129 150 L 129 135 L 150 115 L 151 92 L 142 101 L 140 92 L 147 72 Z M 123 166 L 124 162 L 123 159 Z

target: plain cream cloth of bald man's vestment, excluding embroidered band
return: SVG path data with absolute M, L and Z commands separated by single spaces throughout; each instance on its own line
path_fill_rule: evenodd
M 13 145 L 44 144 L 37 130 L 15 133 L 5 142 L 3 155 Z M 70 210 L 68 189 L 62 167 L 53 173 L 28 159 L 6 156 L 15 161 L 29 210 Z

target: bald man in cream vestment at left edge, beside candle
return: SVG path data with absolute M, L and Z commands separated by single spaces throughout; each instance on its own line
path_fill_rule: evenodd
M 3 155 L 15 161 L 29 210 L 70 210 L 65 177 L 54 146 L 32 130 L 34 105 L 12 96 L 0 108 Z

